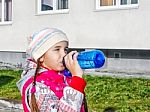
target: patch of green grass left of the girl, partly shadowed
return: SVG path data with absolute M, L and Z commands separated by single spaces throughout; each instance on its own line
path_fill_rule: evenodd
M 0 70 L 0 97 L 20 100 L 20 92 L 16 82 L 20 79 L 21 71 Z

